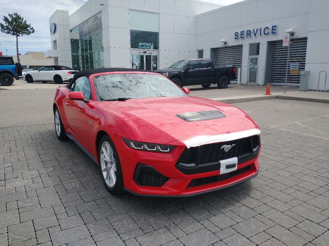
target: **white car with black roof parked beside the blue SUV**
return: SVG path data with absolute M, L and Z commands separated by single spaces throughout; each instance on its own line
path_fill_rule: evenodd
M 26 72 L 24 80 L 27 83 L 33 83 L 34 81 L 42 81 L 44 83 L 54 81 L 56 84 L 62 84 L 63 81 L 70 81 L 77 72 L 77 70 L 66 66 L 45 66 L 39 70 Z

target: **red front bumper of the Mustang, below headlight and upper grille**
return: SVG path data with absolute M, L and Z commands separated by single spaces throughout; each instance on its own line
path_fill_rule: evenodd
M 258 174 L 258 155 L 244 158 L 230 175 L 220 174 L 220 163 L 214 171 L 186 173 L 177 168 L 186 146 L 176 146 L 171 153 L 133 150 L 121 138 L 114 139 L 122 167 L 125 190 L 145 196 L 190 196 L 238 184 Z M 153 169 L 153 171 L 151 170 Z M 151 171 L 150 171 L 151 170 Z M 212 170 L 212 169 L 211 169 Z

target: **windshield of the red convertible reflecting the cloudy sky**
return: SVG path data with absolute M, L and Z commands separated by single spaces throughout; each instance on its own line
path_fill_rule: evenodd
M 94 77 L 97 101 L 117 98 L 187 96 L 171 80 L 162 75 L 117 73 Z

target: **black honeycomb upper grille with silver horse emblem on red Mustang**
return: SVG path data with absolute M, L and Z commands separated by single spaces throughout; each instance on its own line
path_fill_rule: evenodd
M 232 148 L 225 152 L 224 149 L 221 149 L 223 145 L 232 145 Z M 196 158 L 195 155 L 198 149 L 200 150 L 199 157 Z M 193 163 L 193 161 L 196 160 L 197 165 L 202 165 L 212 162 L 219 162 L 220 160 L 225 160 L 232 157 L 238 157 L 251 152 L 251 139 L 250 137 L 246 137 L 228 142 L 207 144 L 200 147 L 185 149 L 179 162 L 188 164 Z

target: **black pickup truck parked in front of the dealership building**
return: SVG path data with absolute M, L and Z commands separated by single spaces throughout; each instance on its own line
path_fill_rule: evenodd
M 169 68 L 156 70 L 171 79 L 178 86 L 201 85 L 204 88 L 217 84 L 224 89 L 231 80 L 236 79 L 235 67 L 217 68 L 211 59 L 187 59 L 172 64 Z

